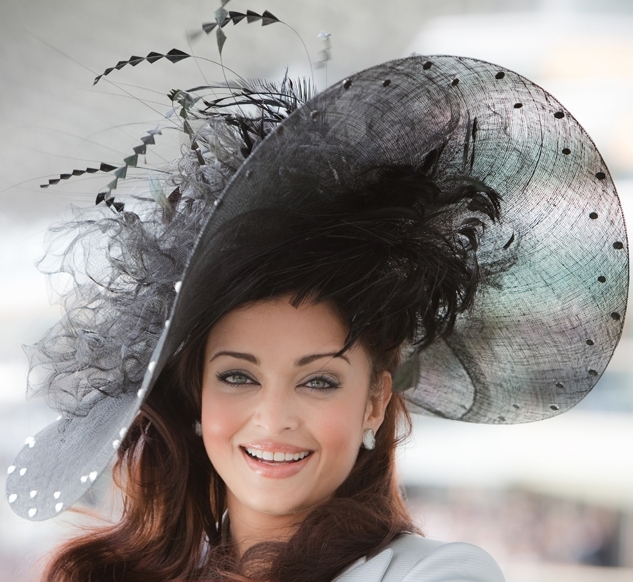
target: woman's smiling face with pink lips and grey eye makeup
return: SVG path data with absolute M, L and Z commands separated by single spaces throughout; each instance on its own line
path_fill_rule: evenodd
M 370 394 L 364 348 L 335 355 L 346 335 L 327 303 L 288 298 L 236 309 L 211 330 L 202 436 L 231 515 L 299 514 L 349 475 L 363 430 L 382 422 L 391 381 L 383 374 Z

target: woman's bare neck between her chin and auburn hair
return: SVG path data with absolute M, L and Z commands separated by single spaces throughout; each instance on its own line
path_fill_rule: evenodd
M 260 542 L 283 542 L 296 531 L 306 512 L 291 515 L 260 513 L 227 496 L 231 538 L 241 557 L 250 547 Z

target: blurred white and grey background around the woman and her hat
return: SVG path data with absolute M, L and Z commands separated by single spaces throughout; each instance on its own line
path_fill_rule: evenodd
M 26 403 L 20 347 L 37 341 L 60 313 L 34 267 L 46 227 L 68 218 L 72 204 L 93 204 L 107 178 L 80 178 L 47 190 L 39 184 L 95 161 L 120 161 L 161 123 L 170 89 L 221 79 L 210 62 L 218 59 L 214 38 L 189 42 L 185 34 L 212 21 L 218 5 L 0 3 L 1 466 L 55 417 L 41 402 Z M 227 8 L 270 10 L 293 27 L 243 22 L 226 29 L 224 65 L 245 77 L 281 78 L 287 67 L 291 76 L 313 76 L 322 89 L 412 52 L 478 57 L 527 76 L 593 137 L 633 224 L 630 0 L 232 0 Z M 327 34 L 331 58 L 320 63 Z M 92 86 L 95 75 L 119 60 L 174 47 L 203 58 L 142 63 Z M 176 154 L 177 144 L 166 144 L 148 163 Z M 425 533 L 482 546 L 509 582 L 633 580 L 632 356 L 628 323 L 593 392 L 549 421 L 504 427 L 416 419 L 399 462 Z M 103 508 L 107 486 L 106 476 L 85 504 Z M 0 580 L 36 580 L 42 560 L 76 532 L 77 523 L 69 514 L 25 522 L 1 502 Z

